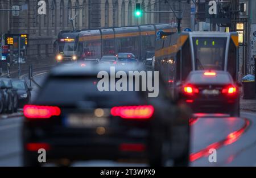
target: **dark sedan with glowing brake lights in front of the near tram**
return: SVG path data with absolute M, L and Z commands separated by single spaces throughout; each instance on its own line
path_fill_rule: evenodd
M 240 116 L 239 87 L 228 72 L 193 71 L 183 85 L 180 96 L 193 113 L 225 113 Z

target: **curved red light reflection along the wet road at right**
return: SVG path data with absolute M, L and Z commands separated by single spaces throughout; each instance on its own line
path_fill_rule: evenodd
M 244 120 L 245 120 L 245 125 L 243 125 L 243 127 L 240 130 L 230 133 L 228 136 L 226 136 L 226 138 L 224 140 L 221 140 L 220 142 L 212 143 L 208 147 L 204 148 L 203 150 L 191 154 L 189 156 L 189 160 L 191 162 L 194 162 L 197 159 L 200 159 L 204 156 L 208 156 L 209 150 L 211 148 L 214 148 L 217 150 L 218 148 L 220 148 L 222 146 L 226 146 L 226 145 L 236 142 L 240 138 L 240 136 L 245 132 L 247 127 L 249 127 L 249 125 L 250 125 L 250 121 L 248 119 L 244 119 Z

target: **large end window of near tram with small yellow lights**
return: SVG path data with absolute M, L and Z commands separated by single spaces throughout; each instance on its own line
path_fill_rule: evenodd
M 224 70 L 226 38 L 193 38 L 196 70 Z

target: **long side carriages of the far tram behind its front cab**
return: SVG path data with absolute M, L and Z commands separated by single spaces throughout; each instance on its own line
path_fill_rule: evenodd
M 100 59 L 104 55 L 131 52 L 143 59 L 146 51 L 154 51 L 156 32 L 176 32 L 172 24 L 102 28 L 79 33 L 77 54 L 80 59 Z

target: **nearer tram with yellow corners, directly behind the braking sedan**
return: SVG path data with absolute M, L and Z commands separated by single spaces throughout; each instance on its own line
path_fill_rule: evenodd
M 181 32 L 156 42 L 155 70 L 171 88 L 196 70 L 228 71 L 238 78 L 236 32 Z

